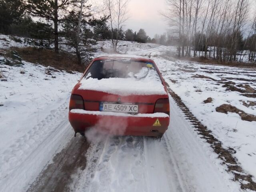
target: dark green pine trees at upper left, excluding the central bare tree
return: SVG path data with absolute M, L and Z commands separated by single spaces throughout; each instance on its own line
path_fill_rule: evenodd
M 95 17 L 88 0 L 0 0 L 0 33 L 34 38 L 59 52 L 59 39 L 74 48 L 78 64 L 88 60 L 108 16 Z M 84 44 L 84 46 L 82 46 Z

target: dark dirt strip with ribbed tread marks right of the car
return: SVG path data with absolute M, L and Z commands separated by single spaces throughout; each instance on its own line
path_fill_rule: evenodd
M 165 82 L 166 83 L 166 82 Z M 232 148 L 223 148 L 222 143 L 216 139 L 210 130 L 207 129 L 186 107 L 186 105 L 182 102 L 181 98 L 173 92 L 169 85 L 166 83 L 167 90 L 176 102 L 176 104 L 180 107 L 182 112 L 184 112 L 185 117 L 188 121 L 192 123 L 198 134 L 202 135 L 202 138 L 206 140 L 214 150 L 216 154 L 218 154 L 218 158 L 223 161 L 223 164 L 226 164 L 228 167 L 228 172 L 232 172 L 234 175 L 234 181 L 240 183 L 242 189 L 250 189 L 256 190 L 256 182 L 252 179 L 252 175 L 246 174 L 246 172 L 242 169 L 242 167 L 238 164 L 238 160 L 232 155 L 236 153 L 236 151 Z

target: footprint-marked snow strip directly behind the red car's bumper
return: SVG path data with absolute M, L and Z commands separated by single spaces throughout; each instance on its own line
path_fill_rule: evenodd
M 108 137 L 101 144 L 92 144 L 88 152 L 99 151 L 89 152 L 84 174 L 74 178 L 70 191 L 188 191 L 170 154 L 162 150 L 164 145 L 166 142 L 136 136 Z

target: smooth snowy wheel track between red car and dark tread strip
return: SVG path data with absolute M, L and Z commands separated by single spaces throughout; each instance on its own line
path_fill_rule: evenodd
M 182 111 L 176 106 L 172 98 L 170 131 L 163 137 L 166 143 L 165 150 L 174 162 L 174 169 L 178 172 L 179 182 L 182 182 L 184 192 L 215 192 L 235 191 L 232 185 L 232 177 L 226 174 L 224 168 L 218 166 L 220 162 L 217 156 L 212 154 L 207 146 L 192 129 L 192 126 L 184 120 Z M 217 165 L 217 166 L 216 166 Z M 226 182 L 223 182 L 226 180 Z

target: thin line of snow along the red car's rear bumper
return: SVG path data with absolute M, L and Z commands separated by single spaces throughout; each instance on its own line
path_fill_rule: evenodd
M 151 113 L 151 114 L 127 114 L 127 113 L 117 113 L 117 112 L 106 112 L 106 111 L 86 111 L 82 109 L 72 109 L 70 112 L 78 113 L 78 114 L 87 114 L 87 115 L 104 115 L 104 116 L 122 116 L 122 117 L 150 117 L 150 118 L 166 118 L 169 117 L 168 114 L 165 113 Z

